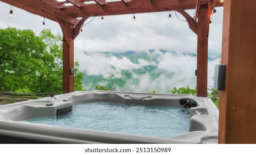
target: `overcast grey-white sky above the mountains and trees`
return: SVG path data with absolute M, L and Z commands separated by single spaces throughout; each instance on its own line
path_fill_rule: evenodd
M 9 18 L 10 10 L 10 5 L 0 2 L 0 28 L 16 27 L 18 29 L 32 29 L 36 34 L 40 33 L 43 17 L 13 7 L 13 17 Z M 93 21 L 91 21 L 93 18 L 89 18 L 85 21 L 85 24 L 91 22 L 82 28 L 84 34 L 79 34 L 75 39 L 75 61 L 79 61 L 80 65 L 83 64 L 85 59 L 83 51 L 124 52 L 128 50 L 165 49 L 196 54 L 197 35 L 190 30 L 187 22 L 181 22 L 176 17 L 175 12 L 171 12 L 172 19 L 169 21 L 169 13 L 135 14 L 136 22 L 132 20 L 134 14 L 107 16 L 104 17 L 104 22 L 101 22 L 101 17 L 96 17 Z M 193 17 L 194 10 L 188 10 L 187 13 Z M 178 12 L 177 16 L 185 20 Z M 217 8 L 216 17 L 211 17 L 211 20 L 212 27 L 209 30 L 208 53 L 221 55 L 222 7 Z M 52 30 L 54 34 L 62 34 L 59 24 L 52 20 L 45 19 L 45 28 Z M 172 61 L 179 63 L 178 59 Z M 190 62 L 189 60 L 185 61 Z M 218 60 L 208 63 L 208 86 L 213 85 L 212 76 L 216 63 L 218 63 Z M 129 66 L 130 63 L 125 64 L 128 65 L 127 67 L 132 67 Z M 81 65 L 80 69 L 83 69 L 83 66 Z M 170 66 L 170 64 L 167 66 Z M 191 65 L 184 65 L 181 68 L 187 66 L 191 66 L 189 70 L 192 71 L 189 78 L 194 78 L 196 59 L 192 61 Z M 104 71 L 104 69 L 101 71 Z M 186 85 L 188 84 L 184 84 L 184 86 Z M 195 82 L 193 85 L 196 85 Z

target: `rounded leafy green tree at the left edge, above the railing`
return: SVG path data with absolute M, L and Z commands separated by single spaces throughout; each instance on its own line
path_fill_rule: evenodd
M 0 91 L 29 87 L 43 65 L 45 44 L 32 30 L 0 29 Z

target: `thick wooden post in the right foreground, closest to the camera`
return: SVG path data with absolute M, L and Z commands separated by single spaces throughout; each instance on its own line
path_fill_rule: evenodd
M 219 143 L 256 143 L 256 1 L 224 2 Z

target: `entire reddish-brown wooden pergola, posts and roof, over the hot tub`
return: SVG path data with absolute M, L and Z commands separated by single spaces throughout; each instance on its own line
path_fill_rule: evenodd
M 0 0 L 59 23 L 63 32 L 63 93 L 74 91 L 74 39 L 95 16 L 177 11 L 197 34 L 197 96 L 207 96 L 209 19 L 219 0 Z M 110 0 L 109 0 L 110 1 Z M 256 143 L 256 1 L 224 2 L 219 143 Z M 186 9 L 195 9 L 192 18 Z M 246 28 L 245 28 L 246 25 Z M 238 71 L 237 71 L 238 70 Z

